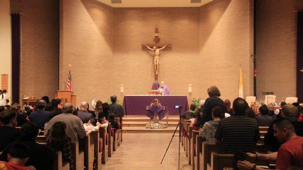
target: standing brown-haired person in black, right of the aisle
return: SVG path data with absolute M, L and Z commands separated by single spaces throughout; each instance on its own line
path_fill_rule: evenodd
M 224 104 L 224 101 L 221 98 L 219 98 L 221 93 L 218 87 L 211 86 L 210 88 L 207 89 L 207 93 L 209 95 L 209 98 L 205 100 L 204 108 L 203 108 L 205 122 L 212 120 L 212 109 L 215 106 L 221 107 L 223 112 L 226 112 L 226 106 Z

